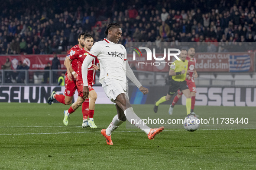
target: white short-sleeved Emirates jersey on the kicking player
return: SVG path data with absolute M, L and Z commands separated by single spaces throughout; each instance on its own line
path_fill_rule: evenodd
M 88 54 L 97 57 L 100 62 L 100 83 L 105 77 L 126 82 L 126 49 L 122 44 L 115 44 L 104 38 L 96 42 Z

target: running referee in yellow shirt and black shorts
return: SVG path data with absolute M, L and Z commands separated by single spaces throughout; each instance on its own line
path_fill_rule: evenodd
M 188 60 L 187 58 L 187 50 L 181 50 L 180 59 L 175 60 L 174 65 L 170 66 L 169 76 L 172 76 L 171 85 L 169 86 L 168 93 L 166 96 L 163 96 L 158 101 L 156 101 L 154 106 L 154 112 L 157 113 L 158 106 L 162 102 L 169 101 L 172 98 L 172 95 L 175 94 L 178 90 L 180 90 L 186 96 L 186 108 L 187 114 L 190 113 L 191 110 L 191 94 L 187 87 L 186 78 L 190 79 L 190 76 L 187 73 L 188 70 Z

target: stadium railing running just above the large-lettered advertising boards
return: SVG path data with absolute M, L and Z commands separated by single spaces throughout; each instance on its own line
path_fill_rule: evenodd
M 0 70 L 1 85 L 57 85 L 58 78 L 65 69 L 42 70 Z M 133 70 L 135 76 L 144 86 L 165 86 L 168 72 L 149 72 Z M 198 72 L 195 84 L 207 86 L 253 86 L 256 84 L 255 72 L 230 73 L 230 72 Z M 129 85 L 133 85 L 128 80 Z M 96 75 L 95 85 L 100 85 L 99 75 Z

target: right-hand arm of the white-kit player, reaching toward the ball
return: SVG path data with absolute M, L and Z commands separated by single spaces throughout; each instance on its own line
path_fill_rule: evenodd
M 126 61 L 126 76 L 128 79 L 130 79 L 131 82 L 133 82 L 134 85 L 137 86 L 137 88 L 139 88 L 139 91 L 141 91 L 143 94 L 149 93 L 149 89 L 143 87 L 139 80 L 134 75 L 133 70 L 130 68 L 128 61 Z

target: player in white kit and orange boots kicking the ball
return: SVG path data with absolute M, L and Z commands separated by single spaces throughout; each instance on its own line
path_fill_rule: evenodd
M 102 84 L 107 97 L 116 103 L 117 115 L 114 116 L 107 129 L 101 130 L 101 134 L 106 138 L 107 145 L 113 145 L 110 135 L 125 120 L 128 120 L 130 123 L 146 132 L 150 140 L 154 139 L 154 137 L 164 129 L 164 127 L 151 129 L 140 121 L 131 122 L 131 120 L 141 119 L 134 113 L 133 107 L 128 99 L 126 76 L 143 94 L 147 94 L 148 89 L 143 87 L 134 76 L 128 61 L 126 61 L 127 54 L 125 47 L 121 44 L 117 44 L 121 35 L 122 30 L 120 25 L 117 23 L 111 23 L 108 25 L 105 30 L 105 36 L 107 36 L 107 38 L 104 38 L 103 41 L 99 41 L 93 45 L 82 65 L 84 97 L 87 98 L 89 94 L 87 67 L 94 57 L 97 57 L 100 62 L 100 83 Z M 137 122 L 140 123 L 138 124 Z

